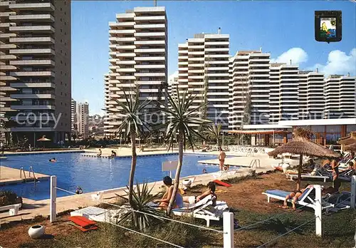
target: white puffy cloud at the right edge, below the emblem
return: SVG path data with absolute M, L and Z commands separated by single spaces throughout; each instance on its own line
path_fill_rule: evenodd
M 355 75 L 356 48 L 353 48 L 348 55 L 340 50 L 330 51 L 328 61 L 325 64 L 316 63 L 310 69 L 315 70 L 316 68 L 319 68 L 319 71 L 327 76 L 330 74 L 346 75 L 347 73 Z

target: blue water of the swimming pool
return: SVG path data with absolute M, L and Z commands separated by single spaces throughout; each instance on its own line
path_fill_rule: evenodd
M 57 162 L 49 162 L 56 157 Z M 214 155 L 184 155 L 181 176 L 199 175 L 206 168 L 208 172 L 219 170 L 217 166 L 199 165 L 199 160 L 214 159 Z M 137 157 L 135 181 L 154 182 L 162 180 L 169 172 L 162 172 L 162 162 L 178 160 L 178 155 L 159 155 Z M 78 153 L 59 153 L 41 155 L 9 156 L 1 165 L 28 170 L 30 166 L 38 173 L 57 176 L 57 187 L 74 192 L 77 186 L 83 192 L 108 190 L 124 187 L 128 183 L 131 157 L 117 157 L 115 160 L 99 157 L 83 157 Z M 174 176 L 174 174 L 173 174 Z M 0 186 L 0 190 L 12 190 L 21 197 L 31 200 L 49 198 L 49 181 L 43 180 L 36 185 L 33 182 L 17 185 Z M 57 196 L 63 197 L 69 193 L 57 190 Z

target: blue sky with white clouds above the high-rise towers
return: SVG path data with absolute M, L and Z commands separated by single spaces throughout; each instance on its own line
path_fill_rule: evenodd
M 72 1 L 72 97 L 103 113 L 103 75 L 108 73 L 109 21 L 153 1 Z M 355 75 L 356 4 L 351 1 L 157 1 L 168 19 L 168 71 L 177 71 L 178 43 L 194 33 L 230 34 L 230 54 L 258 49 L 274 61 L 300 68 Z M 342 41 L 314 39 L 314 11 L 342 11 Z

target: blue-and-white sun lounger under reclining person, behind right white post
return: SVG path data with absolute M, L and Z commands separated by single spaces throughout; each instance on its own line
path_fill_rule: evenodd
M 263 195 L 267 195 L 267 202 L 270 202 L 271 198 L 278 199 L 278 200 L 285 200 L 286 196 L 290 194 L 288 191 L 283 190 L 266 190 L 266 192 L 262 193 Z M 292 202 L 292 199 L 288 199 L 288 202 Z M 309 187 L 306 189 L 302 195 L 298 198 L 298 201 L 295 204 L 302 205 L 305 207 L 315 208 L 315 189 L 314 187 Z M 333 207 L 334 205 L 322 200 L 322 207 L 323 209 L 328 207 Z

